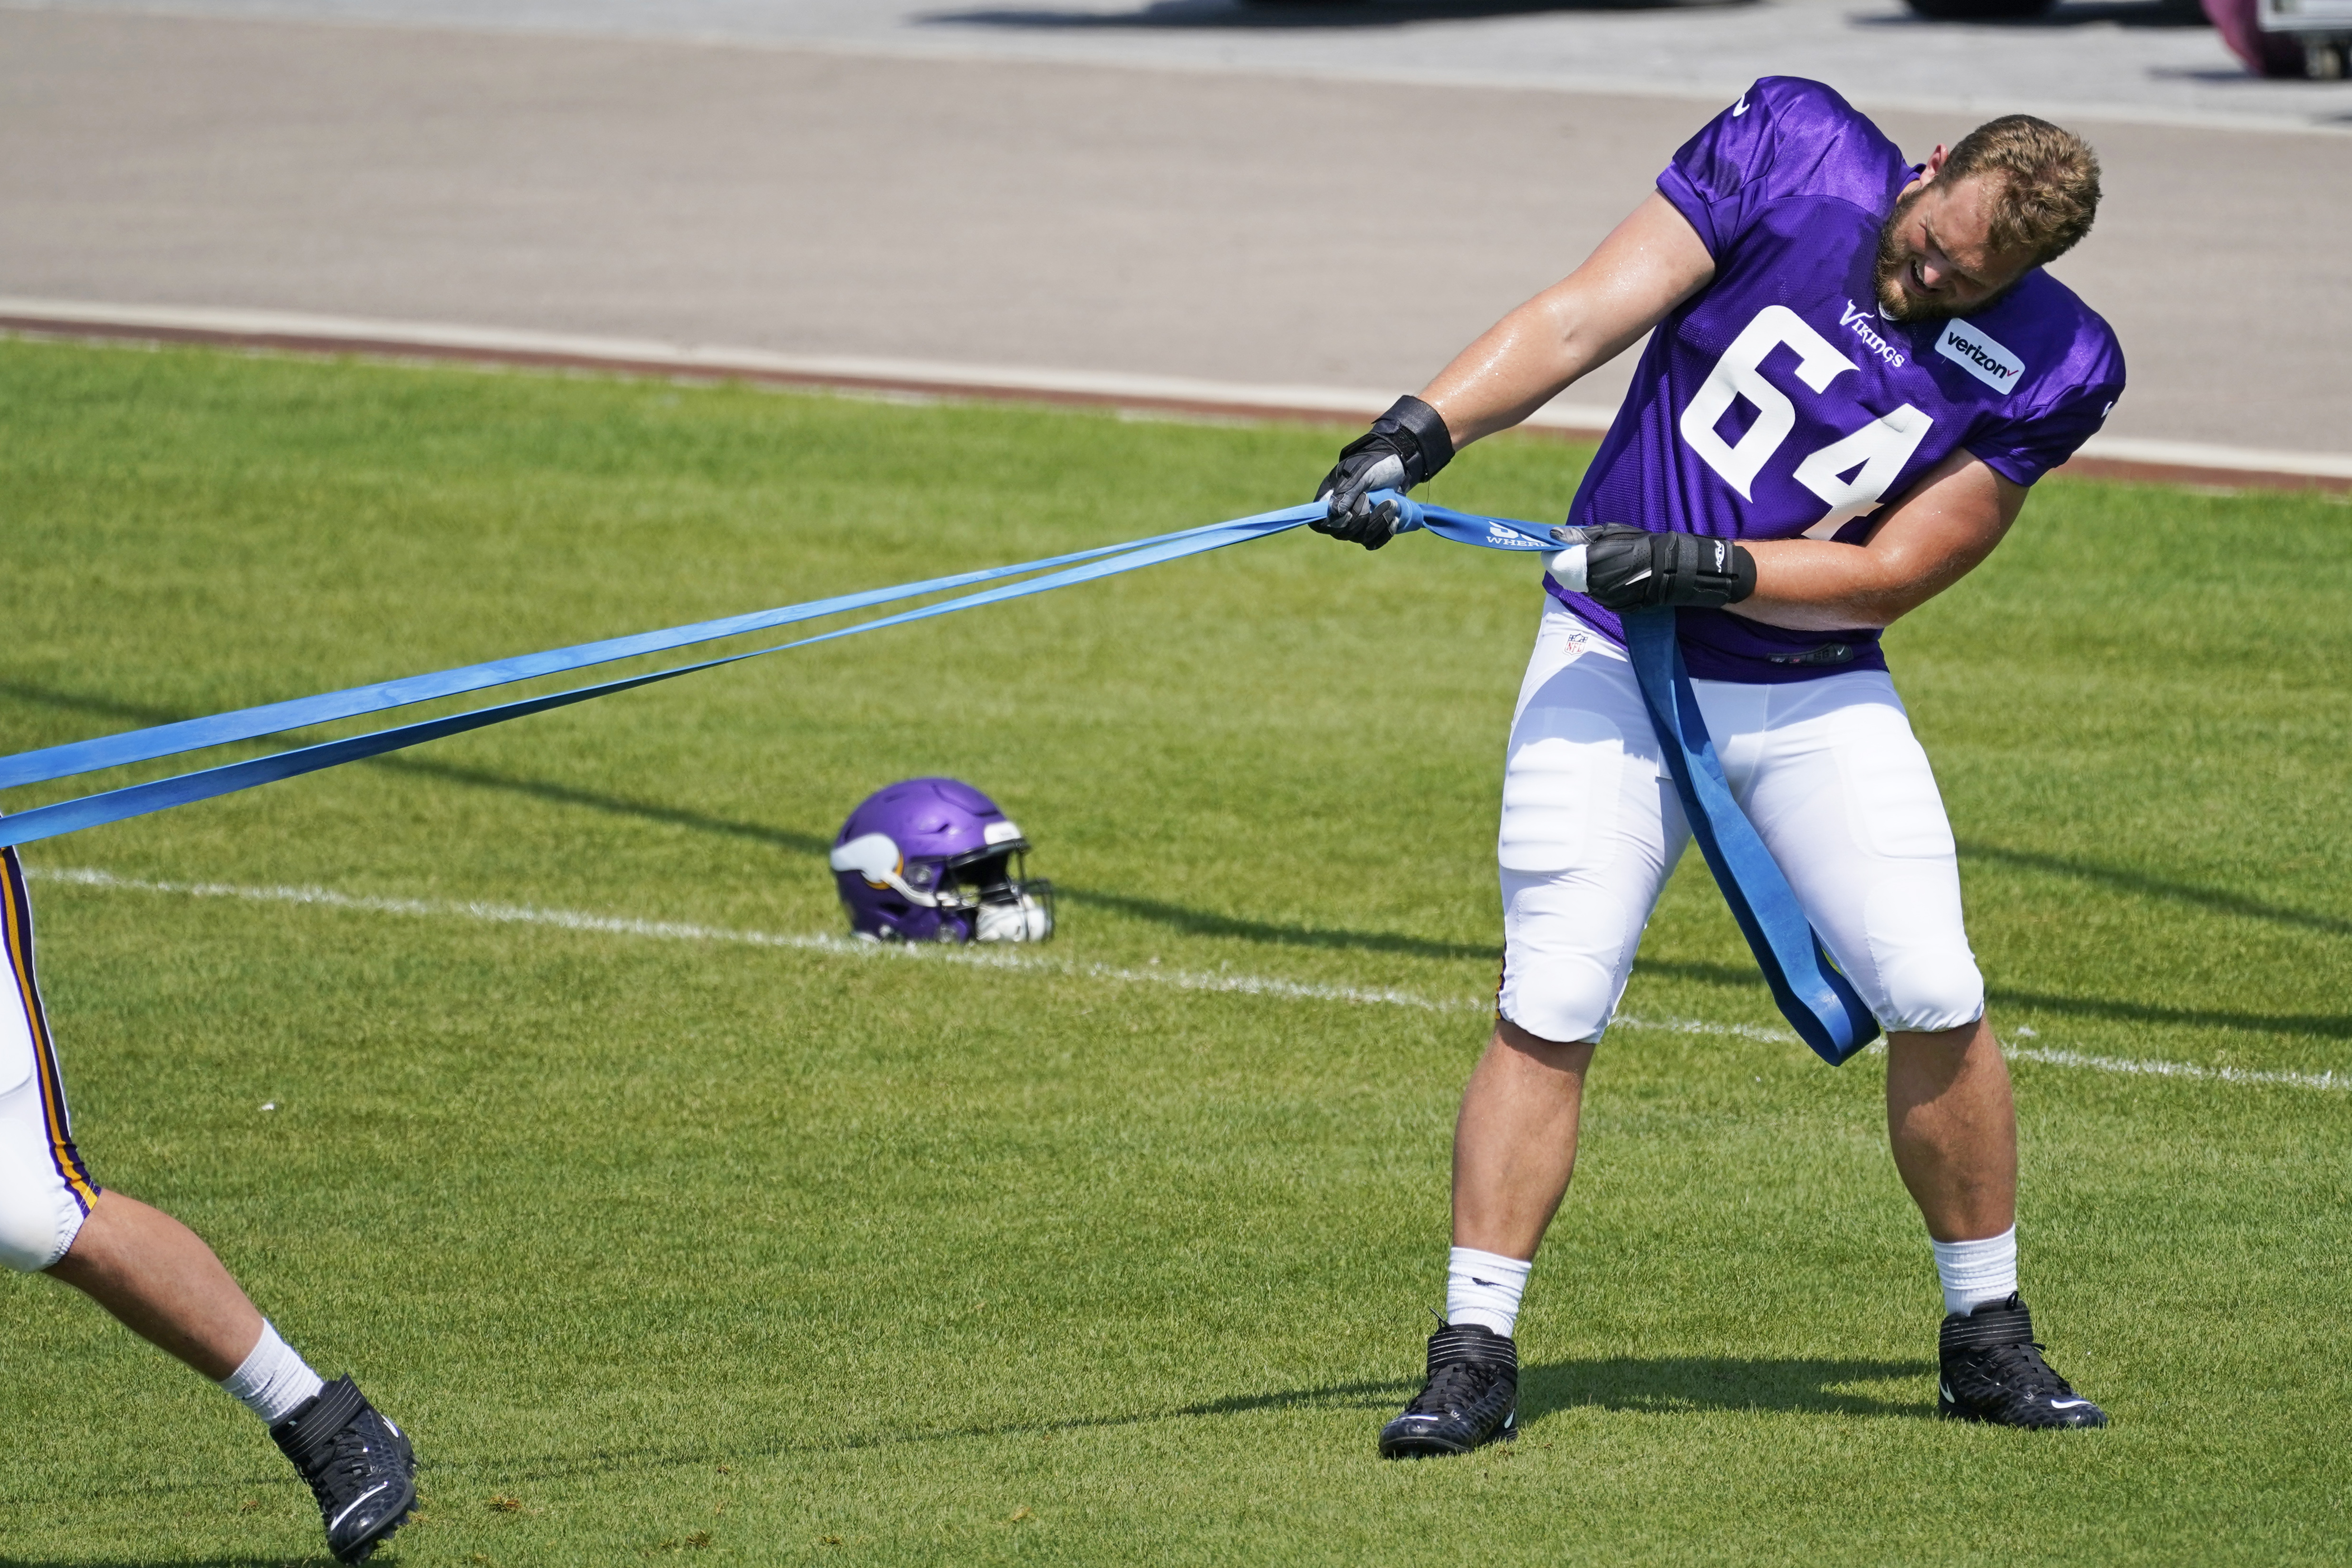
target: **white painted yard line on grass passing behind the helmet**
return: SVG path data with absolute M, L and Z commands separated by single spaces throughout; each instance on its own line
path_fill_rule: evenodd
M 1230 971 L 1190 969 L 1117 969 L 1110 964 L 1073 964 L 1044 954 L 1018 950 L 971 950 L 868 943 L 847 936 L 788 936 L 779 931 L 736 931 L 729 926 L 701 926 L 675 919 L 637 919 L 628 914 L 586 914 L 581 910 L 543 910 L 524 903 L 487 903 L 461 898 L 376 898 L 369 893 L 339 893 L 320 886 L 245 886 L 235 882 L 148 882 L 143 877 L 118 877 L 96 867 L 26 867 L 35 882 L 59 882 L 66 886 L 103 889 L 113 893 L 165 893 L 176 898 L 235 898 L 240 903 L 292 903 L 322 910 L 350 910 L 358 914 L 407 914 L 412 919 L 468 919 L 494 926 L 555 926 L 557 931 L 590 931 L 597 936 L 635 936 L 656 943 L 708 943 L 734 947 L 786 947 L 800 952 L 826 952 L 858 959 L 915 959 L 924 964 L 964 964 L 974 969 L 1014 969 L 1047 976 L 1073 976 L 1082 980 L 1110 980 L 1120 985 L 1174 985 L 1176 990 L 1230 992 L 1242 997 L 1287 997 L 1296 1001 L 1338 1001 L 1345 1006 L 1404 1006 L 1425 1013 L 1484 1013 L 1494 1006 L 1486 997 L 1423 997 L 1404 990 L 1378 990 L 1359 985 L 1312 985 L 1303 980 L 1277 980 L 1272 976 L 1237 976 Z M 1731 1039 L 1757 1039 L 1769 1044 L 1797 1044 L 1788 1030 L 1755 1023 L 1708 1023 L 1703 1018 L 1616 1018 L 1611 1027 L 1646 1030 L 1658 1034 L 1719 1034 Z M 1872 1051 L 1884 1051 L 1884 1044 Z M 2044 1046 L 2006 1046 L 2009 1060 L 2042 1063 L 2046 1067 L 2079 1067 L 2089 1072 L 2124 1072 L 2159 1079 L 2194 1079 L 2211 1084 L 2277 1084 L 2286 1088 L 2352 1088 L 2352 1072 L 2258 1072 L 2251 1067 L 2199 1067 L 2194 1063 L 2164 1063 L 2124 1056 L 2084 1056 L 2082 1051 L 2058 1051 Z

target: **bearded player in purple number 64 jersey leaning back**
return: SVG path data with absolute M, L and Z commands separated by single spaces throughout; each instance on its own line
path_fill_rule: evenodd
M 1969 574 L 2124 390 L 2044 266 L 2098 160 L 2009 115 L 1910 162 L 1820 82 L 1764 78 L 1599 249 L 1350 442 L 1317 531 L 1378 550 L 1374 491 L 1435 475 L 1649 334 L 1545 576 L 1503 773 L 1503 983 L 1454 1133 L 1454 1253 L 1392 1458 L 1517 1420 L 1512 1324 L 1566 1194 L 1592 1051 L 1689 827 L 1618 611 L 1677 607 L 1700 712 L 1837 966 L 1886 1030 L 1886 1128 L 1943 1279 L 1936 1408 L 2100 1427 L 2018 1295 L 2009 1072 L 1962 929 L 1936 776 L 1879 632 Z

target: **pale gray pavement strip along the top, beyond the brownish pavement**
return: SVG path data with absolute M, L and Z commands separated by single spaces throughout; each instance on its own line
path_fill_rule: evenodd
M 842 47 L 1729 101 L 1759 75 L 1863 108 L 2352 129 L 2352 82 L 2265 82 L 2164 0 L 1936 24 L 1903 0 L 9 0 L 245 19 Z M 2187 5 L 2194 16 L 2194 0 Z

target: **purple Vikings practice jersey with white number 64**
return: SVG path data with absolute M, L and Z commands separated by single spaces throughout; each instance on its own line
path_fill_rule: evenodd
M 1658 176 L 1715 280 L 1658 322 L 1569 522 L 1717 538 L 1860 543 L 1952 451 L 2032 484 L 2098 430 L 2124 353 L 2074 292 L 2030 270 L 1966 320 L 1889 322 L 1879 228 L 1917 169 L 1844 99 L 1769 75 Z M 1623 642 L 1588 595 L 1545 588 Z M 1790 632 L 1679 611 L 1698 679 L 1884 670 L 1879 632 Z

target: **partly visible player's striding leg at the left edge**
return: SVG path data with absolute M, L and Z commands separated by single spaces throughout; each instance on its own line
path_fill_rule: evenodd
M 409 1439 L 350 1378 L 313 1373 L 193 1229 L 89 1178 L 33 980 L 33 903 L 14 849 L 0 849 L 0 1262 L 66 1281 L 228 1389 L 310 1483 L 334 1556 L 365 1561 L 416 1502 Z

